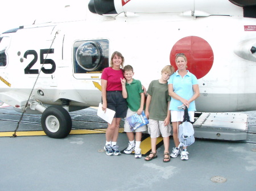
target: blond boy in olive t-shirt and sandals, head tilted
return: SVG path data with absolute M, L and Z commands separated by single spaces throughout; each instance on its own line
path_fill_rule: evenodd
M 150 161 L 157 158 L 156 155 L 156 139 L 160 136 L 164 141 L 164 159 L 163 162 L 170 162 L 169 154 L 169 137 L 171 135 L 169 110 L 171 97 L 168 95 L 167 80 L 174 73 L 174 67 L 171 65 L 165 66 L 161 72 L 159 80 L 152 80 L 147 90 L 147 101 L 145 114 L 149 119 L 148 133 L 151 138 L 151 152 L 146 156 L 145 160 Z

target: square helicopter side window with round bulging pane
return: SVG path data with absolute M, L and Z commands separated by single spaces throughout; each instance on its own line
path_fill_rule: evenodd
M 102 71 L 109 66 L 109 41 L 76 41 L 73 55 L 74 73 Z

